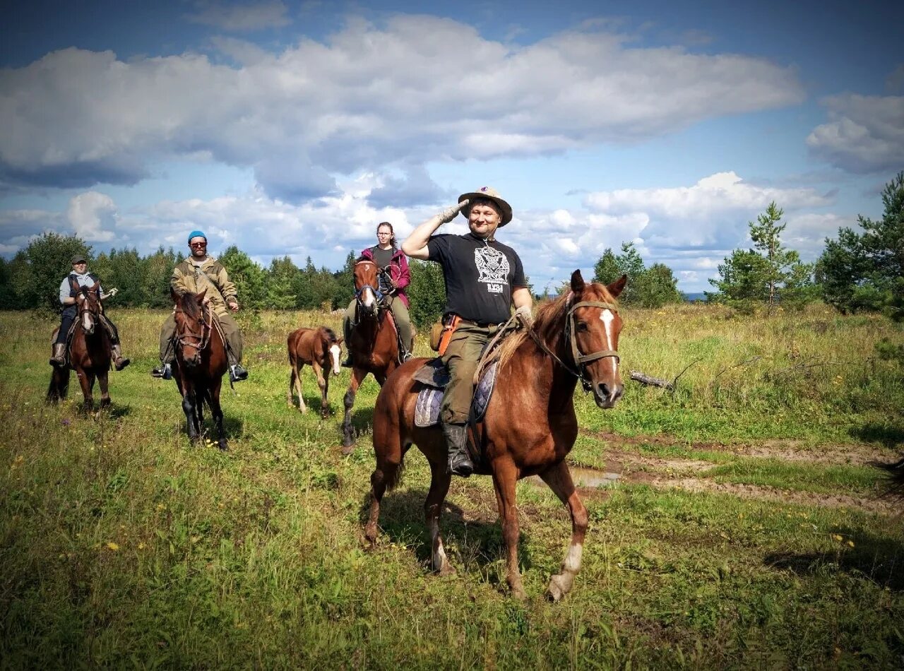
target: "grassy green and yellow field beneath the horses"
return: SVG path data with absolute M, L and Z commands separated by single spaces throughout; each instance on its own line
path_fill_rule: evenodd
M 904 441 L 904 372 L 872 355 L 878 317 L 626 311 L 626 393 L 578 394 L 570 461 L 590 530 L 574 590 L 542 598 L 570 534 L 519 484 L 524 585 L 505 593 L 489 478 L 456 479 L 443 528 L 457 575 L 428 570 L 415 449 L 362 524 L 378 388 L 340 453 L 334 415 L 287 407 L 285 341 L 340 317 L 240 314 L 250 380 L 223 394 L 231 449 L 192 447 L 174 383 L 152 379 L 165 314 L 112 313 L 132 365 L 98 416 L 46 407 L 52 324 L 0 314 L 0 667 L 895 667 L 904 536 L 873 458 Z M 419 354 L 427 354 L 424 342 Z M 627 381 L 672 380 L 674 392 Z M 594 487 L 605 480 L 607 487 Z

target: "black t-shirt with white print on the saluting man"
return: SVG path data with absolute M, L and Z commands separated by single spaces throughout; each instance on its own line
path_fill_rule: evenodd
M 427 243 L 427 251 L 428 260 L 443 267 L 446 312 L 472 322 L 508 321 L 512 314 L 512 289 L 527 286 L 515 250 L 466 233 L 434 235 Z

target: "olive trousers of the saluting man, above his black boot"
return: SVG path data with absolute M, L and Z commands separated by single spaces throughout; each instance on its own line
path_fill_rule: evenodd
M 447 424 L 464 424 L 471 411 L 474 396 L 474 373 L 485 345 L 499 330 L 499 326 L 476 326 L 461 323 L 443 354 L 443 364 L 449 369 L 449 383 L 439 406 L 439 419 Z

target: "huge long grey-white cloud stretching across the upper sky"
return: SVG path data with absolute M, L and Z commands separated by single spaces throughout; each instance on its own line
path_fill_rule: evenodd
M 399 15 L 279 53 L 221 40 L 233 65 L 52 52 L 0 71 L 0 124 L 12 129 L 0 135 L 0 181 L 134 184 L 155 161 L 206 154 L 253 166 L 268 194 L 300 203 L 333 192 L 328 175 L 638 142 L 804 97 L 796 72 L 774 63 L 631 48 L 607 30 L 518 46 Z M 414 184 L 400 191 L 422 194 Z

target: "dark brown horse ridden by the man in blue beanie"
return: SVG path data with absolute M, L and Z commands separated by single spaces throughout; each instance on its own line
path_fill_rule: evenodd
M 173 379 L 182 394 L 189 439 L 196 442 L 202 437 L 206 402 L 217 429 L 217 444 L 220 449 L 227 449 L 220 407 L 222 376 L 228 367 L 226 346 L 214 324 L 211 307 L 204 303 L 205 293 L 207 289 L 198 294 L 173 292 L 176 341 Z

